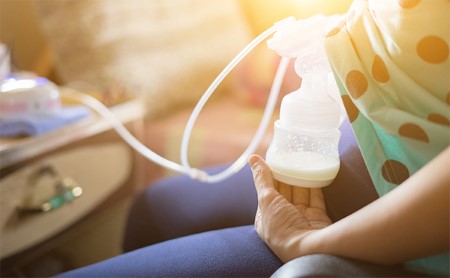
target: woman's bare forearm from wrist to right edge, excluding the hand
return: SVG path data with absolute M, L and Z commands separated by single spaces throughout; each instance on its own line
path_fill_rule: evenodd
M 450 148 L 363 209 L 307 239 L 311 253 L 395 264 L 449 250 Z

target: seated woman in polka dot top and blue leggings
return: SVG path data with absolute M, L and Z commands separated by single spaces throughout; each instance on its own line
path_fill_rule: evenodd
M 327 34 L 349 115 L 332 185 L 279 183 L 258 156 L 217 185 L 162 180 L 127 253 L 63 276 L 448 275 L 449 5 L 359 0 Z

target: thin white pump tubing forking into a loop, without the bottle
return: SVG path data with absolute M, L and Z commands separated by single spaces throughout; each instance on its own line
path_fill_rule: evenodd
M 205 171 L 192 168 L 189 165 L 188 161 L 188 145 L 189 145 L 189 138 L 192 132 L 192 128 L 194 127 L 195 121 L 198 118 L 198 115 L 201 112 L 201 109 L 208 101 L 209 97 L 213 94 L 214 90 L 220 85 L 220 83 L 225 79 L 225 77 L 230 73 L 230 71 L 258 44 L 260 44 L 264 39 L 266 39 L 269 35 L 271 35 L 273 32 L 276 31 L 276 27 L 272 26 L 271 28 L 267 29 L 265 32 L 263 32 L 261 35 L 259 35 L 257 38 L 255 38 L 252 42 L 250 42 L 226 67 L 225 69 L 217 76 L 217 78 L 213 81 L 213 83 L 210 85 L 210 87 L 206 90 L 206 92 L 203 94 L 202 98 L 199 100 L 197 105 L 195 106 L 194 111 L 192 112 L 188 123 L 186 124 L 184 133 L 183 133 L 183 139 L 181 142 L 181 162 L 182 164 L 175 163 L 173 161 L 170 161 L 149 148 L 147 148 L 144 144 L 139 142 L 139 140 L 136 139 L 124 126 L 123 124 L 115 117 L 115 115 L 99 100 L 96 98 L 84 94 L 81 92 L 78 92 L 74 89 L 67 88 L 68 90 L 65 90 L 63 92 L 64 96 L 69 99 L 74 99 L 81 101 L 82 103 L 86 104 L 90 108 L 92 108 L 94 111 L 96 111 L 100 116 L 105 118 L 112 127 L 117 131 L 117 133 L 127 142 L 134 150 L 136 150 L 138 153 L 142 154 L 147 159 L 155 162 L 156 164 L 165 167 L 169 170 L 176 171 L 182 174 L 189 175 L 193 179 L 197 179 L 203 182 L 208 183 L 215 183 L 220 182 L 229 176 L 235 174 L 238 172 L 242 167 L 244 167 L 245 163 L 247 162 L 248 156 L 250 156 L 252 153 L 256 151 L 256 148 L 258 147 L 262 137 L 264 136 L 264 133 L 267 130 L 267 127 L 270 123 L 273 111 L 275 109 L 275 104 L 278 98 L 278 94 L 281 88 L 281 84 L 283 81 L 284 74 L 286 72 L 286 68 L 289 63 L 288 58 L 283 58 L 280 61 L 280 65 L 278 67 L 277 73 L 274 78 L 274 82 L 270 91 L 269 99 L 266 104 L 266 109 L 264 111 L 263 117 L 261 119 L 261 123 L 258 126 L 258 129 L 250 142 L 247 149 L 241 154 L 241 156 L 227 169 L 224 171 L 215 174 L 215 175 L 208 175 Z

